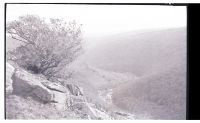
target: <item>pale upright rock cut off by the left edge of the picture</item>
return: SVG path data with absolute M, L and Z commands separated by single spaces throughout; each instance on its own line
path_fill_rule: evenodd
M 15 68 L 10 65 L 9 63 L 6 63 L 6 93 L 10 94 L 13 91 L 12 87 L 12 76 L 14 74 Z

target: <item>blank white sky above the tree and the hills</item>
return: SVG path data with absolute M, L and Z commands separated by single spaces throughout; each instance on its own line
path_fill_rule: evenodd
M 8 4 L 7 21 L 20 15 L 76 20 L 85 36 L 186 26 L 184 6 Z

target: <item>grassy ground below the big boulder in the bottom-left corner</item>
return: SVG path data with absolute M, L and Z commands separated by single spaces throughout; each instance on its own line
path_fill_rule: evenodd
M 6 95 L 6 119 L 81 119 L 74 112 L 58 111 L 52 104 L 42 104 L 32 98 Z

